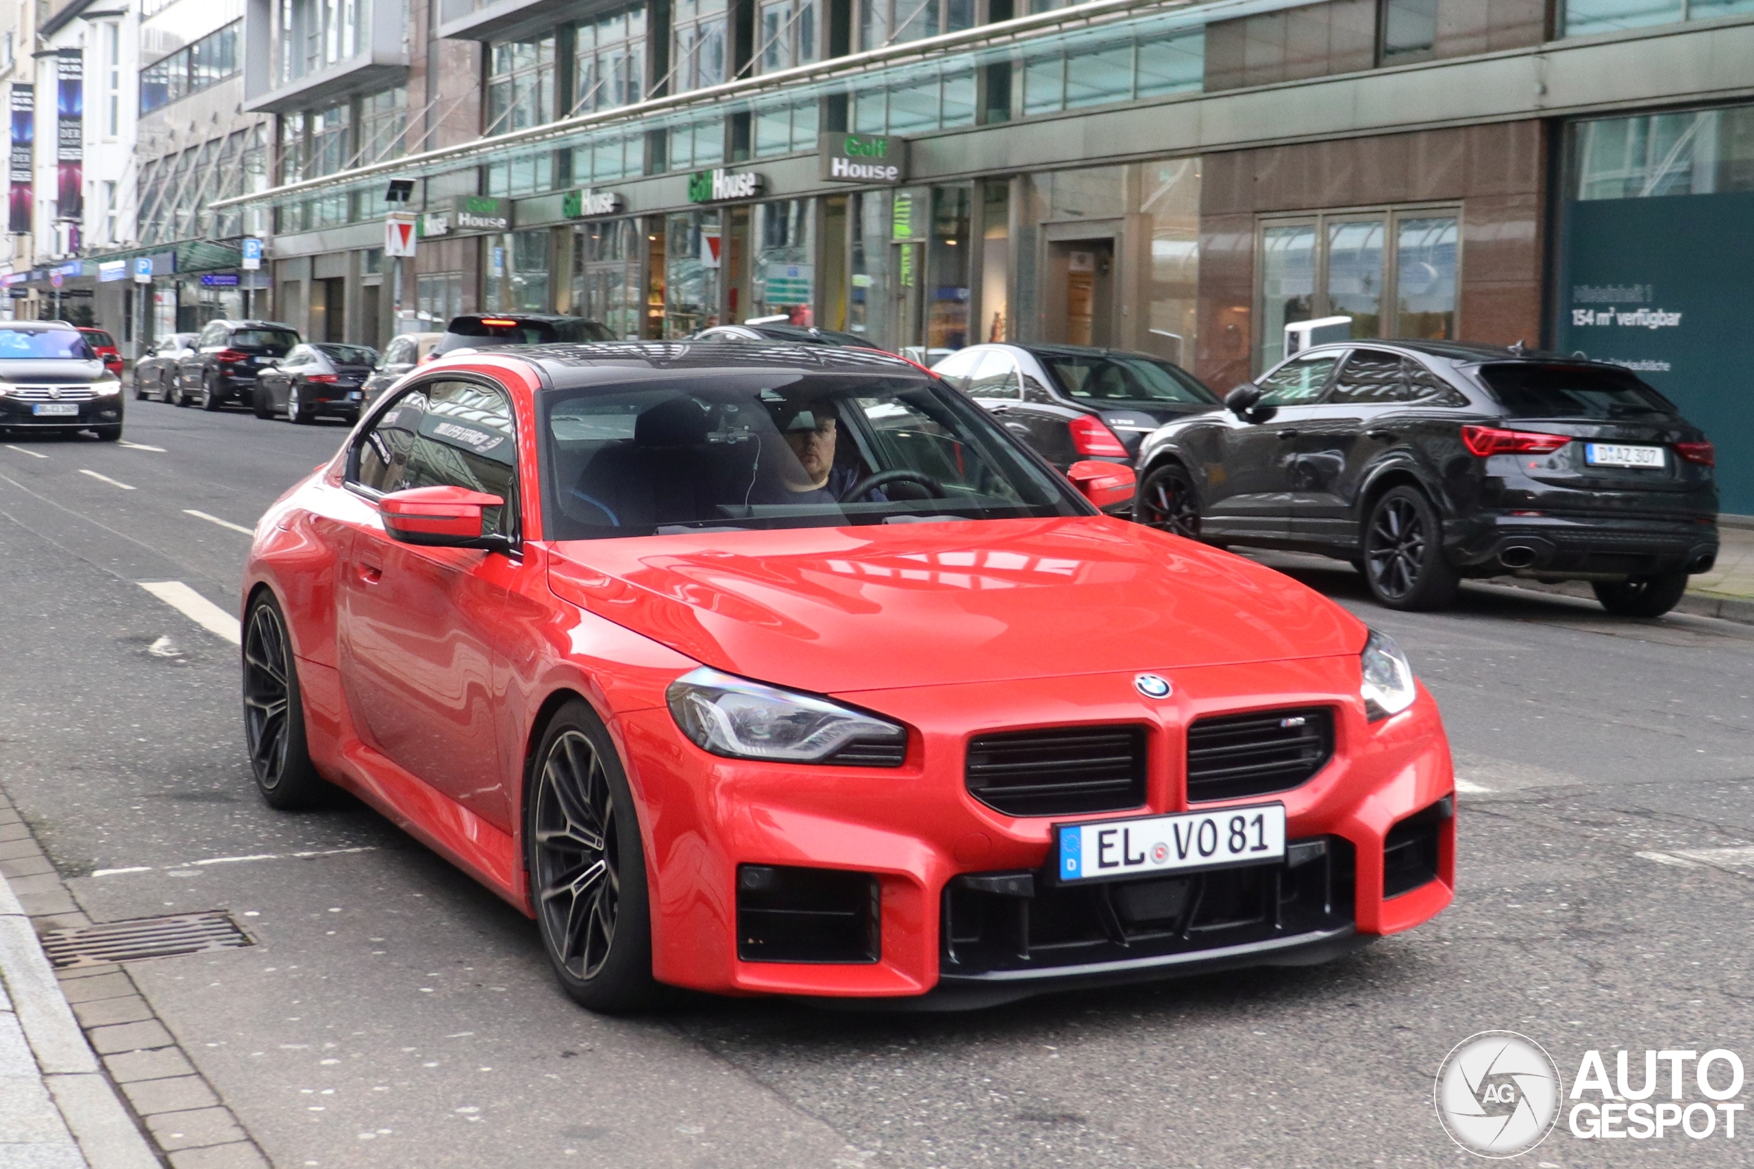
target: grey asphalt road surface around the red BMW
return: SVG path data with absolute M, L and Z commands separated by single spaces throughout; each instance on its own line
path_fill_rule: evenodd
M 1435 922 L 1316 969 L 968 1015 L 603 1020 L 551 987 L 530 922 L 375 813 L 261 806 L 235 648 L 137 584 L 235 610 L 249 536 L 191 512 L 251 528 L 344 428 L 128 405 L 133 447 L 0 438 L 0 783 L 93 917 L 249 925 L 256 946 L 133 973 L 275 1165 L 1475 1164 L 1431 1078 L 1479 1031 L 1535 1038 L 1566 1081 L 1587 1048 L 1610 1073 L 1617 1048 L 1731 1048 L 1754 1080 L 1754 627 L 1489 585 L 1387 613 L 1351 570 L 1284 561 L 1444 708 L 1466 787 Z M 253 859 L 191 864 L 216 857 Z M 1740 1165 L 1745 1123 L 1561 1123 L 1521 1164 Z

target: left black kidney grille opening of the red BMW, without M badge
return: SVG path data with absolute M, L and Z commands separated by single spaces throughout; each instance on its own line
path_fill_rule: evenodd
M 1056 727 L 968 743 L 968 794 L 1014 817 L 1119 811 L 1145 803 L 1144 727 Z

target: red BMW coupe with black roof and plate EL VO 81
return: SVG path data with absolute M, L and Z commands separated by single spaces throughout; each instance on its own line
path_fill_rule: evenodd
M 1454 782 L 1400 648 L 1100 512 L 1130 491 L 877 352 L 446 358 L 256 531 L 256 782 L 356 792 L 600 1011 L 975 1006 L 1435 915 Z

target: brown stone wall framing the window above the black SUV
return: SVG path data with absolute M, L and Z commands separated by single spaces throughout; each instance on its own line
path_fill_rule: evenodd
M 1459 202 L 1461 340 L 1538 344 L 1545 174 L 1538 121 L 1209 154 L 1196 372 L 1251 375 L 1256 217 L 1300 210 Z

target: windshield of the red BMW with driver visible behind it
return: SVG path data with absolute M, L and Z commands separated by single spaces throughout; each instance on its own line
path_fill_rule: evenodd
M 556 540 L 1089 514 L 979 407 L 917 379 L 660 377 L 542 410 Z

